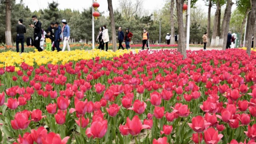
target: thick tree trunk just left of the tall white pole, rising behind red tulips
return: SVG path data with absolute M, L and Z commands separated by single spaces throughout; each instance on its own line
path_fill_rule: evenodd
M 183 55 L 183 59 L 187 58 L 186 46 L 185 46 L 185 30 L 183 23 L 183 3 L 184 0 L 176 0 L 176 8 L 177 8 L 177 18 L 178 18 L 178 28 L 179 28 L 179 41 L 178 41 L 178 52 Z

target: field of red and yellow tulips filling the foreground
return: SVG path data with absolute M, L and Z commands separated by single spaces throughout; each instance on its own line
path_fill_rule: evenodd
M 256 144 L 256 52 L 2 52 L 4 144 Z

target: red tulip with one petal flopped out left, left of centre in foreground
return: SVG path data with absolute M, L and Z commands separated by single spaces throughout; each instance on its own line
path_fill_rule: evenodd
M 75 108 L 70 108 L 69 113 L 76 111 L 79 116 L 84 116 L 87 111 L 87 99 L 85 101 L 80 101 L 75 97 Z

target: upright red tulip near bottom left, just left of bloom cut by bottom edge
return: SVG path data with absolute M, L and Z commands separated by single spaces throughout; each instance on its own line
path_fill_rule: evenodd
M 31 130 L 31 137 L 37 144 L 42 144 L 42 139 L 47 136 L 47 130 L 41 126 L 37 130 Z

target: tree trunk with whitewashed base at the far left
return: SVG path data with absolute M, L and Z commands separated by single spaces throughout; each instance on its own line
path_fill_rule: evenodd
M 12 45 L 12 32 L 11 32 L 11 0 L 5 1 L 5 44 Z

